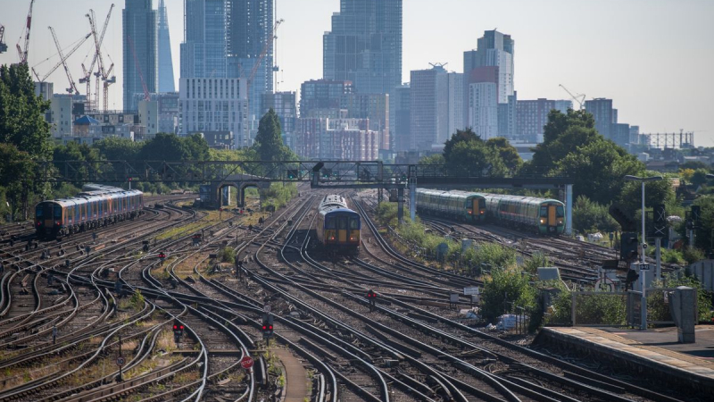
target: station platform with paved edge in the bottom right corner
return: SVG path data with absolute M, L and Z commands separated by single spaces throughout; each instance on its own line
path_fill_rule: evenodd
M 534 344 L 575 349 L 714 397 L 714 325 L 697 325 L 695 337 L 696 343 L 677 343 L 676 327 L 648 331 L 548 327 Z

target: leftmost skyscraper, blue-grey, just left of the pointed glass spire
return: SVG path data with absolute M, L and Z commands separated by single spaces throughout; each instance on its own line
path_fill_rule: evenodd
M 156 46 L 158 29 L 153 7 L 152 0 L 125 0 L 121 12 L 124 110 L 137 110 L 134 94 L 143 93 L 144 85 L 150 93 L 156 92 L 159 79 Z

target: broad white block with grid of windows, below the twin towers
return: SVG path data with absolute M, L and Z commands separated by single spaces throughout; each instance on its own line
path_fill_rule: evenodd
M 234 147 L 250 147 L 247 130 L 247 88 L 240 79 L 181 78 L 181 134 L 232 131 Z

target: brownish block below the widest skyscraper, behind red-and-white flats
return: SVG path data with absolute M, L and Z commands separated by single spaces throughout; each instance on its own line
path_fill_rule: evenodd
M 389 95 L 345 94 L 340 109 L 347 111 L 348 118 L 369 119 L 369 130 L 379 133 L 379 149 L 390 149 Z

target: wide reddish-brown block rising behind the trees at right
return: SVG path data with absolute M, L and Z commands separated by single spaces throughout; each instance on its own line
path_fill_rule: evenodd
M 548 113 L 553 109 L 561 113 L 568 113 L 572 109 L 572 102 L 568 100 L 552 100 L 538 98 L 535 100 L 519 100 L 516 113 L 517 135 L 519 140 L 543 142 L 544 125 L 548 122 Z

